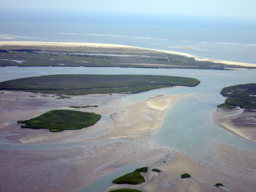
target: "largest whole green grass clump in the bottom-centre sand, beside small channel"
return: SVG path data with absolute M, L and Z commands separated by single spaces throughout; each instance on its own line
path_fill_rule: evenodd
M 113 183 L 116 183 L 116 184 L 132 184 L 132 185 L 143 183 L 143 182 L 145 182 L 145 179 L 142 175 L 140 175 L 140 173 L 141 172 L 147 172 L 147 171 L 148 171 L 147 167 L 136 169 L 132 173 L 128 173 L 128 174 L 126 174 L 122 177 L 118 177 L 117 179 L 113 180 Z

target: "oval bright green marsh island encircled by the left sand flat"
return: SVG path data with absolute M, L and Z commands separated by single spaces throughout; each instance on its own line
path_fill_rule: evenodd
M 51 132 L 76 130 L 94 125 L 100 115 L 70 110 L 52 110 L 33 119 L 18 121 L 21 128 L 50 129 Z

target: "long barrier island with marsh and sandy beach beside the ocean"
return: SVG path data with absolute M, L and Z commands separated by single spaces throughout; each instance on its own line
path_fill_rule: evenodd
M 116 44 L 0 42 L 1 66 L 139 67 L 232 70 L 255 64 L 197 58 L 181 52 Z

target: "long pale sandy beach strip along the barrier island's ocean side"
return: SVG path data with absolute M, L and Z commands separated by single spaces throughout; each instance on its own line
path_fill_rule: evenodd
M 195 57 L 194 55 L 183 53 L 183 52 L 166 51 L 166 50 L 159 50 L 159 49 L 148 49 L 148 48 L 133 47 L 133 46 L 119 45 L 119 44 L 44 42 L 44 41 L 0 41 L 0 46 L 3 46 L 3 45 L 62 46 L 62 47 L 74 47 L 74 46 L 86 47 L 87 46 L 87 47 L 105 47 L 105 48 L 134 48 L 134 49 L 144 49 L 144 50 L 152 50 L 152 51 L 157 51 L 157 52 L 165 52 L 165 53 L 170 53 L 170 54 L 182 55 L 182 56 L 186 56 L 189 58 L 194 58 L 196 61 L 207 61 L 207 62 L 212 62 L 212 63 L 227 64 L 227 65 L 240 65 L 243 67 L 256 67 L 256 64 L 200 58 L 200 57 Z

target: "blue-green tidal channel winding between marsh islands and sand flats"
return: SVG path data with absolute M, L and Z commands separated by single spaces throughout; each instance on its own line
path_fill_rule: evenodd
M 219 140 L 250 150 L 256 150 L 254 143 L 241 140 L 216 127 L 211 115 L 216 106 L 223 103 L 222 88 L 231 84 L 256 83 L 256 70 L 193 70 L 193 69 L 140 69 L 122 67 L 2 67 L 0 81 L 29 76 L 52 74 L 147 74 L 197 78 L 201 83 L 184 89 L 158 89 L 124 97 L 125 101 L 142 101 L 154 95 L 189 95 L 178 101 L 166 113 L 164 122 L 152 136 L 151 142 L 160 143 L 184 151 L 202 160 L 210 140 Z M 167 134 L 168 133 L 168 134 Z M 203 146 L 203 147 L 202 147 Z

